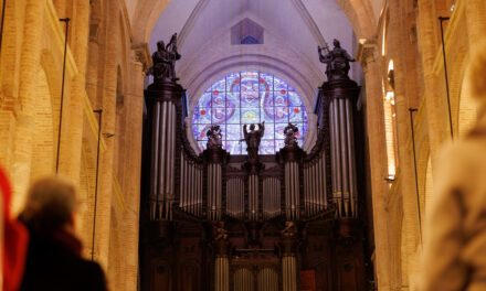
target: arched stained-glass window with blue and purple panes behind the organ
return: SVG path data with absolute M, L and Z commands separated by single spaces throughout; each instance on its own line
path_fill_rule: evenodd
M 299 129 L 298 142 L 307 133 L 307 111 L 295 88 L 272 74 L 240 72 L 214 83 L 199 98 L 192 115 L 192 133 L 203 150 L 207 131 L 219 125 L 223 148 L 231 154 L 245 154 L 243 125 L 265 121 L 261 154 L 273 154 L 284 147 L 284 128 L 292 122 Z

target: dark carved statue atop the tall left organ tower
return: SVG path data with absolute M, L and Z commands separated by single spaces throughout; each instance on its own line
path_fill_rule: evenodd
M 165 45 L 163 41 L 157 42 L 157 52 L 152 54 L 154 67 L 151 74 L 157 80 L 177 80 L 176 61 L 180 60 L 177 52 L 177 33 L 172 35 L 170 42 Z

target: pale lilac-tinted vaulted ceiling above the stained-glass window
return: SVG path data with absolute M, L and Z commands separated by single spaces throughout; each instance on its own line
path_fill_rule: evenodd
M 231 29 L 243 20 L 263 28 L 263 44 L 232 44 Z M 230 71 L 256 68 L 290 78 L 309 105 L 325 79 L 317 45 L 339 39 L 352 53 L 355 42 L 335 0 L 172 0 L 155 25 L 150 50 L 175 32 L 182 54 L 178 76 L 190 94 Z

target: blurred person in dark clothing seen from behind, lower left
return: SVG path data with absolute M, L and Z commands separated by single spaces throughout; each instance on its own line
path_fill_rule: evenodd
M 66 180 L 50 176 L 32 184 L 19 217 L 30 233 L 20 290 L 106 290 L 99 265 L 81 257 L 76 205 L 75 186 Z

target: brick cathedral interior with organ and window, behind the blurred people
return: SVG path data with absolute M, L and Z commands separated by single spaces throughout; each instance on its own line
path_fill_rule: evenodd
M 1 0 L 0 166 L 110 290 L 420 290 L 484 0 Z M 485 46 L 486 47 L 486 46 Z

